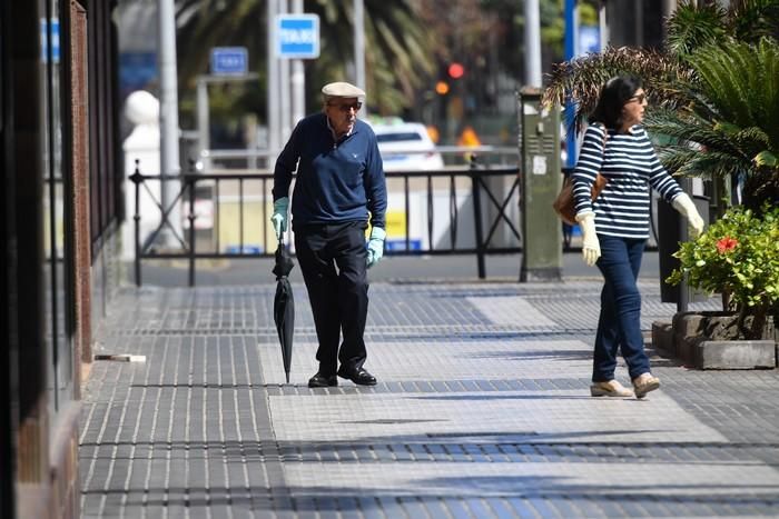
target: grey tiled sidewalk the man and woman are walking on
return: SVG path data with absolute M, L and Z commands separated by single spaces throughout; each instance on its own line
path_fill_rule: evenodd
M 640 285 L 649 330 L 676 305 L 657 278 Z M 289 386 L 273 283 L 122 290 L 96 353 L 146 362 L 92 367 L 82 517 L 779 515 L 776 370 L 653 358 L 662 387 L 645 400 L 591 398 L 595 280 L 374 282 L 378 386 L 316 390 L 294 289 Z

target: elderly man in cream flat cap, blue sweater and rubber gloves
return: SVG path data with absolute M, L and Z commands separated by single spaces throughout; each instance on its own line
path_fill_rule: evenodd
M 367 357 L 363 333 L 368 311 L 366 269 L 382 258 L 386 236 L 384 169 L 376 136 L 357 119 L 365 92 L 339 81 L 325 84 L 322 93 L 323 111 L 297 123 L 276 161 L 270 220 L 280 239 L 297 168 L 292 202 L 295 249 L 319 341 L 319 370 L 308 387 L 337 386 L 337 377 L 374 386 L 376 378 L 363 368 Z

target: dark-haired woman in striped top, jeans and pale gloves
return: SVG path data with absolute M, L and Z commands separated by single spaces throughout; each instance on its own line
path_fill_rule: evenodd
M 641 126 L 645 107 L 639 78 L 610 79 L 589 118 L 573 172 L 582 256 L 586 265 L 598 266 L 604 280 L 590 386 L 593 397 L 643 398 L 660 387 L 643 349 L 641 295 L 635 283 L 649 238 L 650 188 L 687 218 L 693 236 L 703 230 L 694 203 L 662 167 Z M 590 190 L 599 171 L 609 183 L 592 201 Z M 618 348 L 634 392 L 614 380 Z

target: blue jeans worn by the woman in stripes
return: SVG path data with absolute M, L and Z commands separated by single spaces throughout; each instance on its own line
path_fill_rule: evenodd
M 641 293 L 635 285 L 645 240 L 598 236 L 601 257 L 598 268 L 605 280 L 601 291 L 592 381 L 614 378 L 617 349 L 628 362 L 630 378 L 649 372 L 649 358 L 641 333 Z

